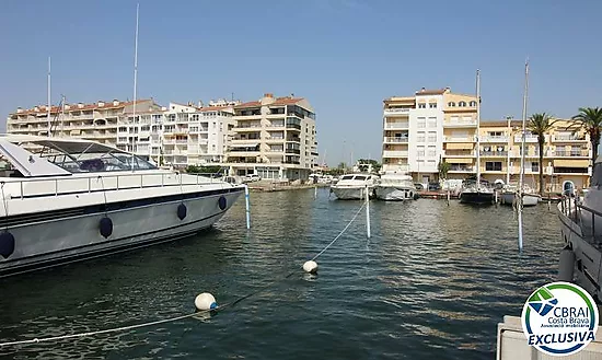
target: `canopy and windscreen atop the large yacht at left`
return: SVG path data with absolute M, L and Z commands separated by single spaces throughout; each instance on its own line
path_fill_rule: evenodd
M 131 153 L 82 139 L 5 136 L 0 137 L 0 147 L 25 177 L 157 169 Z

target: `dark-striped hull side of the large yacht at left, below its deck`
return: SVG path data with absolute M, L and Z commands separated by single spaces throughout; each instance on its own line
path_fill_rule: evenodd
M 32 221 L 3 219 L 14 236 L 14 252 L 0 256 L 0 277 L 124 252 L 193 234 L 215 224 L 242 194 L 241 188 L 187 194 L 183 199 L 124 202 L 121 209 L 65 209 L 65 216 Z M 220 200 L 224 198 L 225 201 Z M 225 204 L 224 204 L 225 202 Z M 128 205 L 129 204 L 129 205 Z M 185 217 L 181 205 L 186 207 Z M 178 210 L 180 207 L 180 210 Z M 111 235 L 101 234 L 109 218 Z M 12 224 L 11 224 L 12 223 Z

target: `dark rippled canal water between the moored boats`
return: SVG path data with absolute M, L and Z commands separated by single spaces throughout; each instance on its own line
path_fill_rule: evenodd
M 0 341 L 134 325 L 194 311 L 209 291 L 228 303 L 208 320 L 0 348 L 8 359 L 491 359 L 497 324 L 555 279 L 559 223 L 526 208 L 524 251 L 508 207 L 419 199 L 370 204 L 321 189 L 251 194 L 204 234 L 0 280 Z M 285 277 L 294 271 L 294 275 Z

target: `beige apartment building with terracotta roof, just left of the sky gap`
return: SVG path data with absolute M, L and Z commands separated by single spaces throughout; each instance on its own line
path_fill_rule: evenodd
M 315 113 L 302 97 L 274 97 L 234 106 L 227 165 L 233 175 L 306 179 L 317 163 Z

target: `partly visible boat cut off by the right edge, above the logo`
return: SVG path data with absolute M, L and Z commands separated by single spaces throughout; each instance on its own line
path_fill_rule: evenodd
M 582 201 L 574 194 L 565 194 L 558 204 L 558 218 L 564 252 L 572 253 L 571 260 L 577 264 L 575 266 L 570 260 L 563 264 L 560 256 L 560 269 L 565 267 L 570 274 L 577 270 L 577 282 L 602 302 L 602 158 L 595 161 L 591 184 Z

